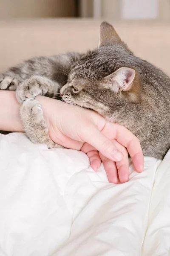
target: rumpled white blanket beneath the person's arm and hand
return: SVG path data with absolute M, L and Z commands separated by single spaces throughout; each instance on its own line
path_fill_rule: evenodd
M 0 134 L 0 256 L 170 255 L 170 151 L 108 183 L 88 157 Z

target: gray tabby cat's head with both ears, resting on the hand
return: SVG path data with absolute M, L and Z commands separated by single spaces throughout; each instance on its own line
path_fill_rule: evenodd
M 62 99 L 104 116 L 123 104 L 139 103 L 141 82 L 136 58 L 113 26 L 102 22 L 98 47 L 71 67 L 68 82 L 60 90 Z

